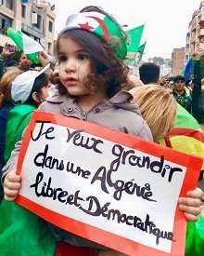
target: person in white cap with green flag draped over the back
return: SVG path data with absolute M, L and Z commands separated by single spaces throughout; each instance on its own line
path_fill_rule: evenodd
M 5 161 L 10 157 L 15 143 L 21 140 L 33 111 L 49 96 L 50 83 L 48 74 L 45 74 L 48 67 L 41 72 L 27 71 L 19 74 L 12 82 L 11 98 L 16 105 L 9 112 L 6 123 Z

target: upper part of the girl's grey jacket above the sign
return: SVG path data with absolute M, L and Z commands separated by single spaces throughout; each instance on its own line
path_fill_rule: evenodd
M 111 99 L 98 103 L 89 112 L 83 112 L 74 98 L 56 96 L 43 102 L 39 110 L 75 117 L 152 141 L 151 131 L 138 106 L 130 103 L 132 99 L 133 96 L 129 92 L 120 91 Z

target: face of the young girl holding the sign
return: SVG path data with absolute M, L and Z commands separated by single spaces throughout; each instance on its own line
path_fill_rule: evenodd
M 62 85 L 72 96 L 90 94 L 91 88 L 85 86 L 91 66 L 88 53 L 70 37 L 61 37 L 58 49 L 58 76 Z

